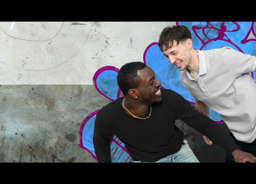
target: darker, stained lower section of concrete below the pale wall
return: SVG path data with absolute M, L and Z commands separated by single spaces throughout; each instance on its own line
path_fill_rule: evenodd
M 0 162 L 95 162 L 77 145 L 79 128 L 109 102 L 93 85 L 1 85 Z M 177 125 L 199 161 L 224 161 L 223 149 L 206 145 L 182 121 Z

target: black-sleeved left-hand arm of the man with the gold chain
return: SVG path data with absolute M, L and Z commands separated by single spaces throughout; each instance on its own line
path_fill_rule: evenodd
M 98 162 L 111 162 L 110 136 L 111 129 L 103 121 L 100 111 L 98 112 L 93 133 L 93 146 Z

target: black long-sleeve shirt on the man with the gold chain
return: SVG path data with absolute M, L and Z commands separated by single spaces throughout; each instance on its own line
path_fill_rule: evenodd
M 240 149 L 213 120 L 203 115 L 178 93 L 161 89 L 162 101 L 152 104 L 148 119 L 126 114 L 121 97 L 104 106 L 96 116 L 93 145 L 98 162 L 111 162 L 110 136 L 114 133 L 135 161 L 158 161 L 180 150 L 184 134 L 175 125 L 180 119 L 228 153 Z M 149 111 L 144 117 L 149 115 Z

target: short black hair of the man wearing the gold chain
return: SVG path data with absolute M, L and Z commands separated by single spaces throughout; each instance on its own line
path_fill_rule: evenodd
M 141 80 L 137 71 L 145 68 L 147 65 L 142 62 L 131 62 L 123 65 L 117 75 L 117 84 L 124 96 L 128 94 L 129 89 L 139 87 Z

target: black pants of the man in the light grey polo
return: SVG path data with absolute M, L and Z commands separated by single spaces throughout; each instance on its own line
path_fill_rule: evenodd
M 246 151 L 248 153 L 256 156 L 256 139 L 252 143 L 244 143 L 235 138 L 235 136 L 231 133 L 230 137 L 235 141 L 235 143 L 241 148 L 242 151 Z M 226 153 L 225 162 L 235 162 L 233 156 L 229 153 Z

